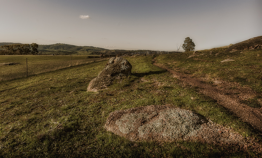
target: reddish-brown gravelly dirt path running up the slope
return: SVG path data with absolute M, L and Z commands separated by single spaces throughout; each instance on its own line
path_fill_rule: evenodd
M 250 126 L 262 132 L 262 108 L 252 108 L 243 104 L 244 100 L 256 96 L 256 92 L 250 88 L 242 87 L 238 83 L 218 80 L 213 81 L 215 84 L 210 84 L 206 83 L 205 79 L 193 78 L 190 75 L 178 73 L 156 62 L 154 62 L 154 65 L 169 71 L 173 77 L 181 80 L 182 84 L 198 87 L 200 93 L 217 100 L 218 104 L 235 114 L 243 122 L 247 122 Z

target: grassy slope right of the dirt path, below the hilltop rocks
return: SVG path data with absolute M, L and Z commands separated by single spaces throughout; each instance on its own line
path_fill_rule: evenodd
M 202 50 L 203 56 L 188 58 L 193 52 L 160 55 L 157 57 L 159 63 L 168 65 L 178 72 L 187 72 L 196 77 L 210 79 L 220 78 L 229 82 L 238 82 L 248 85 L 255 91 L 262 92 L 262 51 L 243 50 L 232 53 L 224 53 L 226 48 L 213 48 Z M 213 55 L 209 55 L 212 51 Z M 214 55 L 219 53 L 218 55 Z M 225 59 L 235 61 L 223 62 Z

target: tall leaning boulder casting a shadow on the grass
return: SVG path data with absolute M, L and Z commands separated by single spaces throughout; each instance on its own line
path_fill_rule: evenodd
M 106 67 L 94 78 L 87 88 L 88 91 L 97 92 L 112 85 L 114 82 L 121 82 L 131 74 L 132 65 L 121 57 L 112 57 Z

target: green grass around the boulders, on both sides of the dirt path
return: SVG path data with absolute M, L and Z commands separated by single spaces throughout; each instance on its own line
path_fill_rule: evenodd
M 198 142 L 134 142 L 104 128 L 107 116 L 115 110 L 174 104 L 261 141 L 259 132 L 214 100 L 193 87 L 181 87 L 169 72 L 152 65 L 155 57 L 158 63 L 180 72 L 210 81 L 236 81 L 261 92 L 261 50 L 212 51 L 221 54 L 188 59 L 192 52 L 126 58 L 133 66 L 129 78 L 97 93 L 86 88 L 106 60 L 71 67 L 67 63 L 61 70 L 1 81 L 0 157 L 260 157 L 261 153 L 251 150 L 235 153 L 231 152 L 234 147 Z M 220 63 L 227 58 L 236 61 Z

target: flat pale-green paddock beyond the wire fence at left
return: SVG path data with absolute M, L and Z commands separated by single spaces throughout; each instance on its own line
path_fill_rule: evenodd
M 1 55 L 0 81 L 13 80 L 94 62 L 94 58 L 87 57 L 86 55 L 72 55 L 72 58 L 70 55 Z M 95 61 L 99 60 L 101 59 L 95 58 Z

